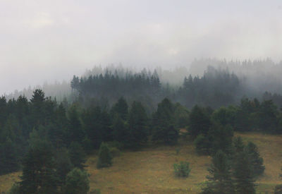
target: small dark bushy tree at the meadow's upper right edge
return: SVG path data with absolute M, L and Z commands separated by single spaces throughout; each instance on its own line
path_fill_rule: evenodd
M 197 135 L 194 145 L 198 154 L 210 154 L 212 152 L 212 141 L 209 140 L 208 136 Z

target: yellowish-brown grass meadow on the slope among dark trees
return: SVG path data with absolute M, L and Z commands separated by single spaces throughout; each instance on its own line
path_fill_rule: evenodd
M 282 166 L 282 135 L 262 133 L 235 133 L 243 140 L 252 141 L 259 147 L 266 169 L 257 180 L 257 193 L 273 193 Z M 190 162 L 188 178 L 178 178 L 173 164 Z M 87 159 L 90 174 L 90 190 L 99 188 L 101 193 L 199 193 L 206 181 L 211 157 L 199 156 L 192 143 L 177 146 L 148 147 L 138 152 L 123 152 L 114 158 L 113 166 L 96 169 L 97 156 Z M 20 173 L 0 176 L 0 191 L 11 188 Z M 0 192 L 1 193 L 1 192 Z

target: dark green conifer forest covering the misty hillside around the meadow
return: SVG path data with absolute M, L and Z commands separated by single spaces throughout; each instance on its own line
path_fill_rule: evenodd
M 163 84 L 157 70 L 106 69 L 74 75 L 62 100 L 41 89 L 30 99 L 2 96 L 0 174 L 23 172 L 7 192 L 99 193 L 85 169 L 90 155 L 97 154 L 97 169 L 111 168 L 119 152 L 184 141 L 212 157 L 202 193 L 255 193 L 264 159 L 234 133 L 282 134 L 282 101 L 273 91 L 254 97 L 246 82 L 212 66 L 179 87 Z M 173 169 L 180 177 L 193 170 L 185 161 Z

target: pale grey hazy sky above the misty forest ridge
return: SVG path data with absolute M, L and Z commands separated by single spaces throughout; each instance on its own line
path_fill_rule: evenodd
M 85 68 L 282 59 L 282 1 L 0 0 L 0 94 Z

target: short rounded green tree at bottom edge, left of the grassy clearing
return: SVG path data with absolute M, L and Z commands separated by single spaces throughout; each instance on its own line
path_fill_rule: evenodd
M 89 179 L 86 171 L 75 168 L 67 174 L 64 193 L 87 194 L 89 189 Z

